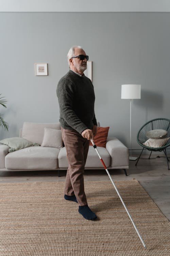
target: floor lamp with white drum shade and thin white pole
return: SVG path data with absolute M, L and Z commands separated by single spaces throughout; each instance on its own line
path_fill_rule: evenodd
M 131 105 L 132 99 L 140 99 L 140 84 L 122 84 L 121 99 L 130 99 L 130 157 L 129 160 L 136 160 L 137 157 L 132 156 L 132 131 L 131 131 Z

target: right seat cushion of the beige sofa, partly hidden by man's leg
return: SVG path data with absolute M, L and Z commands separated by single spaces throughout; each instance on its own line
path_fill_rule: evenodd
M 109 167 L 110 165 L 110 155 L 106 148 L 104 147 L 98 147 L 99 154 L 101 155 L 106 167 Z M 68 161 L 67 161 L 67 153 L 66 148 L 63 147 L 60 150 L 60 153 L 58 155 L 58 167 L 59 168 L 68 168 Z M 100 168 L 103 167 L 101 160 L 99 159 L 99 156 L 94 149 L 93 146 L 89 146 L 89 151 L 87 155 L 87 161 L 85 168 Z

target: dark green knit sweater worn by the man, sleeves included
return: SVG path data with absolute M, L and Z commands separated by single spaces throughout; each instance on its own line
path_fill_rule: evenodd
M 74 129 L 81 134 L 85 129 L 97 125 L 94 87 L 88 77 L 69 70 L 58 82 L 57 97 L 60 123 L 64 129 Z

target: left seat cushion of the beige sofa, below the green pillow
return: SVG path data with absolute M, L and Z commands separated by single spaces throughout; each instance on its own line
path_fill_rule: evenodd
M 59 148 L 27 147 L 8 153 L 5 168 L 18 170 L 55 170 L 58 168 Z

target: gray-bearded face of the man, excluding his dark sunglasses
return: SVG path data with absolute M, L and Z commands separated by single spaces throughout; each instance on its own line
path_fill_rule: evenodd
M 85 51 L 80 48 L 75 48 L 74 49 L 74 56 L 77 55 L 86 55 Z M 73 58 L 72 60 L 72 65 L 74 68 L 77 70 L 79 73 L 83 73 L 87 69 L 87 59 L 85 58 L 84 60 L 81 60 L 79 57 L 78 58 Z

